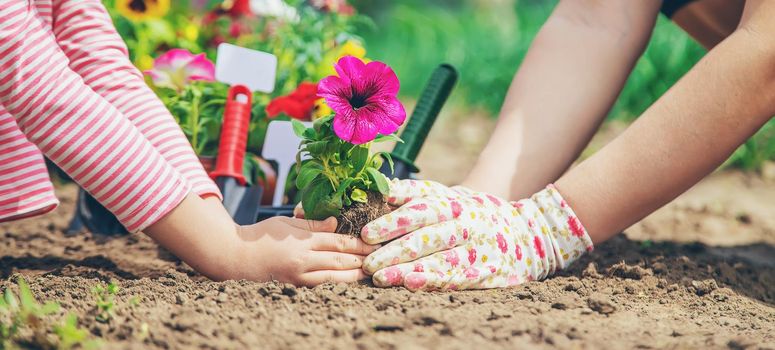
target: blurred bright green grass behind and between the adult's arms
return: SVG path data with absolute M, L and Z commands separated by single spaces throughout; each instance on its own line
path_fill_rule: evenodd
M 362 26 L 372 59 L 388 62 L 401 93 L 418 96 L 433 68 L 451 63 L 460 82 L 451 104 L 496 117 L 533 37 L 557 0 L 356 0 L 374 19 Z M 706 50 L 664 16 L 635 66 L 609 120 L 632 121 L 702 58 Z M 583 88 L 583 87 L 579 87 Z M 775 124 L 735 152 L 727 166 L 758 169 L 775 159 Z

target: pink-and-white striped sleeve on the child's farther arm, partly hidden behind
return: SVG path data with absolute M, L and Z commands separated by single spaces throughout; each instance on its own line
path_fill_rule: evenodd
M 135 124 L 200 196 L 221 193 L 175 119 L 129 61 L 126 46 L 99 0 L 53 0 L 53 31 L 84 82 Z

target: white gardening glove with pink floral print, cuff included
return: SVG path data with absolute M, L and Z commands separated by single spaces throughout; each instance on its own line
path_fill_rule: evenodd
M 391 184 L 391 214 L 361 234 L 387 243 L 364 261 L 380 287 L 484 289 L 540 280 L 567 267 L 592 241 L 559 192 L 549 186 L 508 202 L 465 187 L 423 181 Z

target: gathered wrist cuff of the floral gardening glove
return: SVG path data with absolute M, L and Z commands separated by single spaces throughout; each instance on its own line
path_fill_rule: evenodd
M 549 261 L 550 274 L 555 270 L 565 269 L 585 252 L 594 249 L 584 225 L 554 185 L 550 184 L 530 199 L 538 206 L 548 225 L 548 230 L 541 229 L 541 233 L 545 240 L 551 243 L 554 252 L 554 259 Z

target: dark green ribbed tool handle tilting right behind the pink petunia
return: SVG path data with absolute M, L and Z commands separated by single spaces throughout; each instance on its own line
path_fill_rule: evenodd
M 436 122 L 436 117 L 441 107 L 447 101 L 452 89 L 457 82 L 457 71 L 449 64 L 442 64 L 431 75 L 428 84 L 420 95 L 417 105 L 401 133 L 403 143 L 397 143 L 390 156 L 394 161 L 394 171 L 390 171 L 390 165 L 385 162 L 382 165 L 383 174 L 390 178 L 406 179 L 409 174 L 419 171 L 414 164 L 417 154 L 420 153 L 428 133 Z

